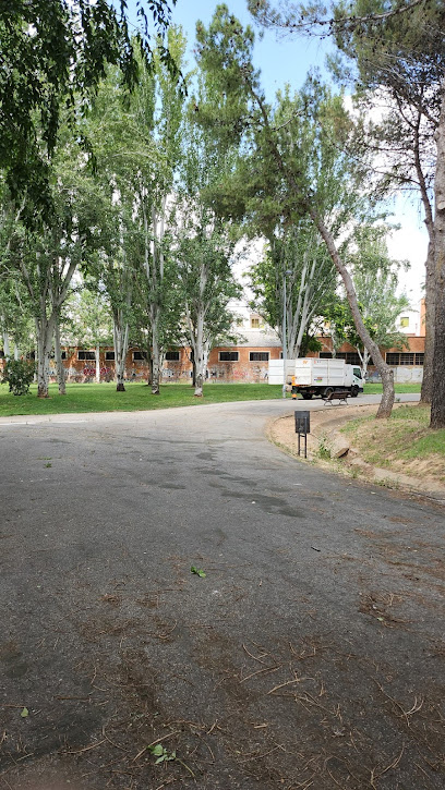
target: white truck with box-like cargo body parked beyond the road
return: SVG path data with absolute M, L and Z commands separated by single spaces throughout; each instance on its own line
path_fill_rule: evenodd
M 268 382 L 285 384 L 282 360 L 270 360 Z M 350 392 L 352 398 L 363 392 L 360 367 L 347 365 L 345 360 L 318 360 L 312 356 L 286 360 L 286 384 L 291 385 L 292 394 L 300 392 L 305 400 L 313 396 L 327 398 L 338 390 Z

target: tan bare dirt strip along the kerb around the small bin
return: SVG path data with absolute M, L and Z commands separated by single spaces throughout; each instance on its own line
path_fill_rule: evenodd
M 397 408 L 395 405 L 395 409 Z M 350 445 L 348 437 L 339 433 L 348 422 L 375 413 L 376 406 L 351 405 L 349 403 L 345 406 L 333 405 L 321 411 L 311 412 L 308 460 L 324 469 L 354 478 L 365 479 L 388 488 L 432 496 L 434 499 L 445 501 L 445 486 L 437 479 L 437 471 L 442 472 L 442 475 L 444 474 L 443 463 L 441 470 L 436 469 L 437 462 L 433 469 L 430 460 L 411 462 L 409 465 L 398 462 L 389 466 L 378 467 L 365 462 L 358 450 Z M 294 430 L 293 414 L 272 421 L 268 426 L 268 437 L 277 447 L 291 455 L 298 455 L 298 436 Z M 301 457 L 304 454 L 303 441 L 301 438 Z M 321 447 L 332 453 L 330 459 L 327 458 L 327 453 L 321 452 Z M 336 453 L 342 453 L 344 450 L 346 450 L 345 454 L 336 458 Z M 404 466 L 407 467 L 406 471 Z

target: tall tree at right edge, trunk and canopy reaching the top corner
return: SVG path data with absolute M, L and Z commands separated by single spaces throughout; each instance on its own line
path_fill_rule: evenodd
M 357 66 L 359 92 L 383 87 L 395 101 L 400 120 L 389 144 L 405 130 L 397 168 L 411 161 L 429 231 L 426 259 L 425 381 L 422 399 L 431 400 L 431 427 L 445 427 L 445 7 L 442 0 L 356 0 L 337 2 L 330 12 L 322 3 L 277 7 L 250 0 L 255 17 L 270 27 L 296 33 L 332 35 Z M 395 131 L 396 129 L 396 131 Z M 388 137 L 384 137 L 386 143 Z M 426 148 L 426 149 L 425 149 Z M 429 190 L 424 156 L 433 154 L 434 197 Z M 394 148 L 393 148 L 394 154 Z M 431 160 L 430 160 L 431 161 Z M 397 173 L 396 173 L 397 174 Z M 433 197 L 433 199 L 432 199 Z

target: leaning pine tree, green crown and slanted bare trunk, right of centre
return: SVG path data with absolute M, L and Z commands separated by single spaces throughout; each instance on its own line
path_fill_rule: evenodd
M 267 190 L 275 181 L 273 197 L 281 192 L 289 220 L 306 217 L 317 229 L 345 284 L 357 331 L 382 377 L 377 417 L 389 416 L 394 403 L 393 370 L 366 330 L 350 272 L 340 255 L 348 227 L 354 221 L 362 222 L 365 215 L 369 218 L 372 209 L 361 190 L 362 170 L 341 153 L 339 145 L 348 134 L 349 123 L 341 97 L 330 96 L 314 82 L 301 96 L 286 97 L 274 112 L 252 66 L 253 34 L 242 28 L 226 5 L 218 7 L 207 31 L 197 25 L 197 40 L 200 65 L 211 71 L 220 86 L 215 129 L 216 117 L 225 127 L 233 110 L 238 110 L 236 123 L 245 130 L 252 151 L 249 163 L 260 187 L 255 192 L 252 185 L 256 202 L 267 200 Z

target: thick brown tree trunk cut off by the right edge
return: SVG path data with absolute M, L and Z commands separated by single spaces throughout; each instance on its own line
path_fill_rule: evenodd
M 435 333 L 431 428 L 445 428 L 445 80 L 436 131 L 437 160 L 434 179 Z

